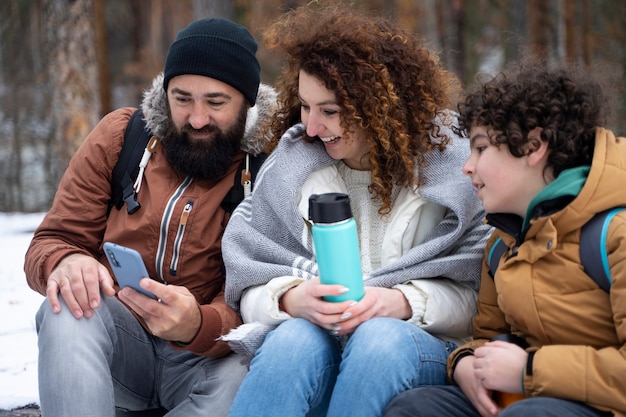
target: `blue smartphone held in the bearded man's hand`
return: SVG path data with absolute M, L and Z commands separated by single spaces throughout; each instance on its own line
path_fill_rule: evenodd
M 150 298 L 157 299 L 150 291 L 146 291 L 139 286 L 139 281 L 142 278 L 149 277 L 139 252 L 115 243 L 105 242 L 104 254 L 109 260 L 115 278 L 121 288 L 131 287 Z

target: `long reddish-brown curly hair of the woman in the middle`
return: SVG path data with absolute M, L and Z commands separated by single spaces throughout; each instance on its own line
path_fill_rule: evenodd
M 300 122 L 303 70 L 335 93 L 346 132 L 355 125 L 365 131 L 369 191 L 381 203 L 379 213 L 388 214 L 394 184 L 419 185 L 416 164 L 449 142 L 435 118 L 453 105 L 458 80 L 416 34 L 343 4 L 314 2 L 287 12 L 265 32 L 264 43 L 287 60 L 276 83 L 280 110 L 265 127 L 273 146 Z

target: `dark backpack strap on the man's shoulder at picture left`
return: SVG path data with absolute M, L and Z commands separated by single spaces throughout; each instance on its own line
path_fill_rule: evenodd
M 113 168 L 109 211 L 112 207 L 121 209 L 124 203 L 127 205 L 128 214 L 133 214 L 141 207 L 137 202 L 133 183 L 139 173 L 139 162 L 151 136 L 151 132 L 146 130 L 143 112 L 141 109 L 135 110 L 128 121 L 124 144 Z

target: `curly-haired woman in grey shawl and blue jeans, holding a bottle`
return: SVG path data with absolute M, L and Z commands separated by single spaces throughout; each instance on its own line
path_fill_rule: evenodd
M 226 339 L 254 353 L 273 330 L 230 415 L 380 416 L 443 383 L 470 335 L 491 229 L 446 110 L 458 83 L 414 34 L 348 6 L 293 10 L 265 42 L 287 65 L 276 148 L 223 239 L 227 300 L 247 323 Z M 358 302 L 322 298 L 345 291 L 317 277 L 308 199 L 327 192 L 349 195 L 358 224 Z

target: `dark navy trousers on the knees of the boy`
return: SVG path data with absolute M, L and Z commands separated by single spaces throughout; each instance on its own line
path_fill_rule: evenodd
M 498 417 L 609 417 L 583 403 L 550 397 L 530 397 L 504 408 Z M 456 385 L 422 387 L 396 397 L 384 417 L 480 417 Z

